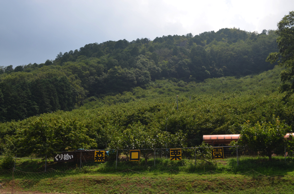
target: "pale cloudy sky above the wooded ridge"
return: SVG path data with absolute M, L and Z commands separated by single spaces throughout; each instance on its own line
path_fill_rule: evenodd
M 45 63 L 89 43 L 260 33 L 293 10 L 294 0 L 0 0 L 0 66 Z

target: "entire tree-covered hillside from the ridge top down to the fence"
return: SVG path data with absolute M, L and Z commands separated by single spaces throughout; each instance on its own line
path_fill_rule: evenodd
M 1 146 L 19 155 L 190 147 L 276 118 L 291 132 L 283 68 L 266 62 L 276 39 L 226 28 L 87 44 L 44 64 L 2 67 Z

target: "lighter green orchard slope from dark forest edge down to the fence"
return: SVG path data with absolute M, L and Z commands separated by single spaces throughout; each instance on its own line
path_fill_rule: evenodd
M 163 79 L 151 82 L 146 89 L 135 87 L 123 94 L 92 97 L 73 111 L 59 110 L 2 123 L 2 147 L 18 155 L 45 155 L 106 146 L 196 146 L 204 134 L 240 133 L 247 120 L 254 124 L 277 117 L 291 132 L 294 103 L 292 99 L 282 101 L 283 94 L 278 93 L 281 70 L 275 67 L 258 75 L 201 83 Z

